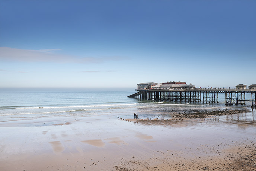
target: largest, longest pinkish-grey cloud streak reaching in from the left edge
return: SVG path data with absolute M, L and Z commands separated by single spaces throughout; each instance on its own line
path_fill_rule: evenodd
M 108 61 L 120 61 L 124 57 L 77 57 L 71 55 L 57 54 L 61 49 L 16 49 L 0 47 L 0 60 L 10 62 L 54 62 L 54 63 L 103 63 Z

